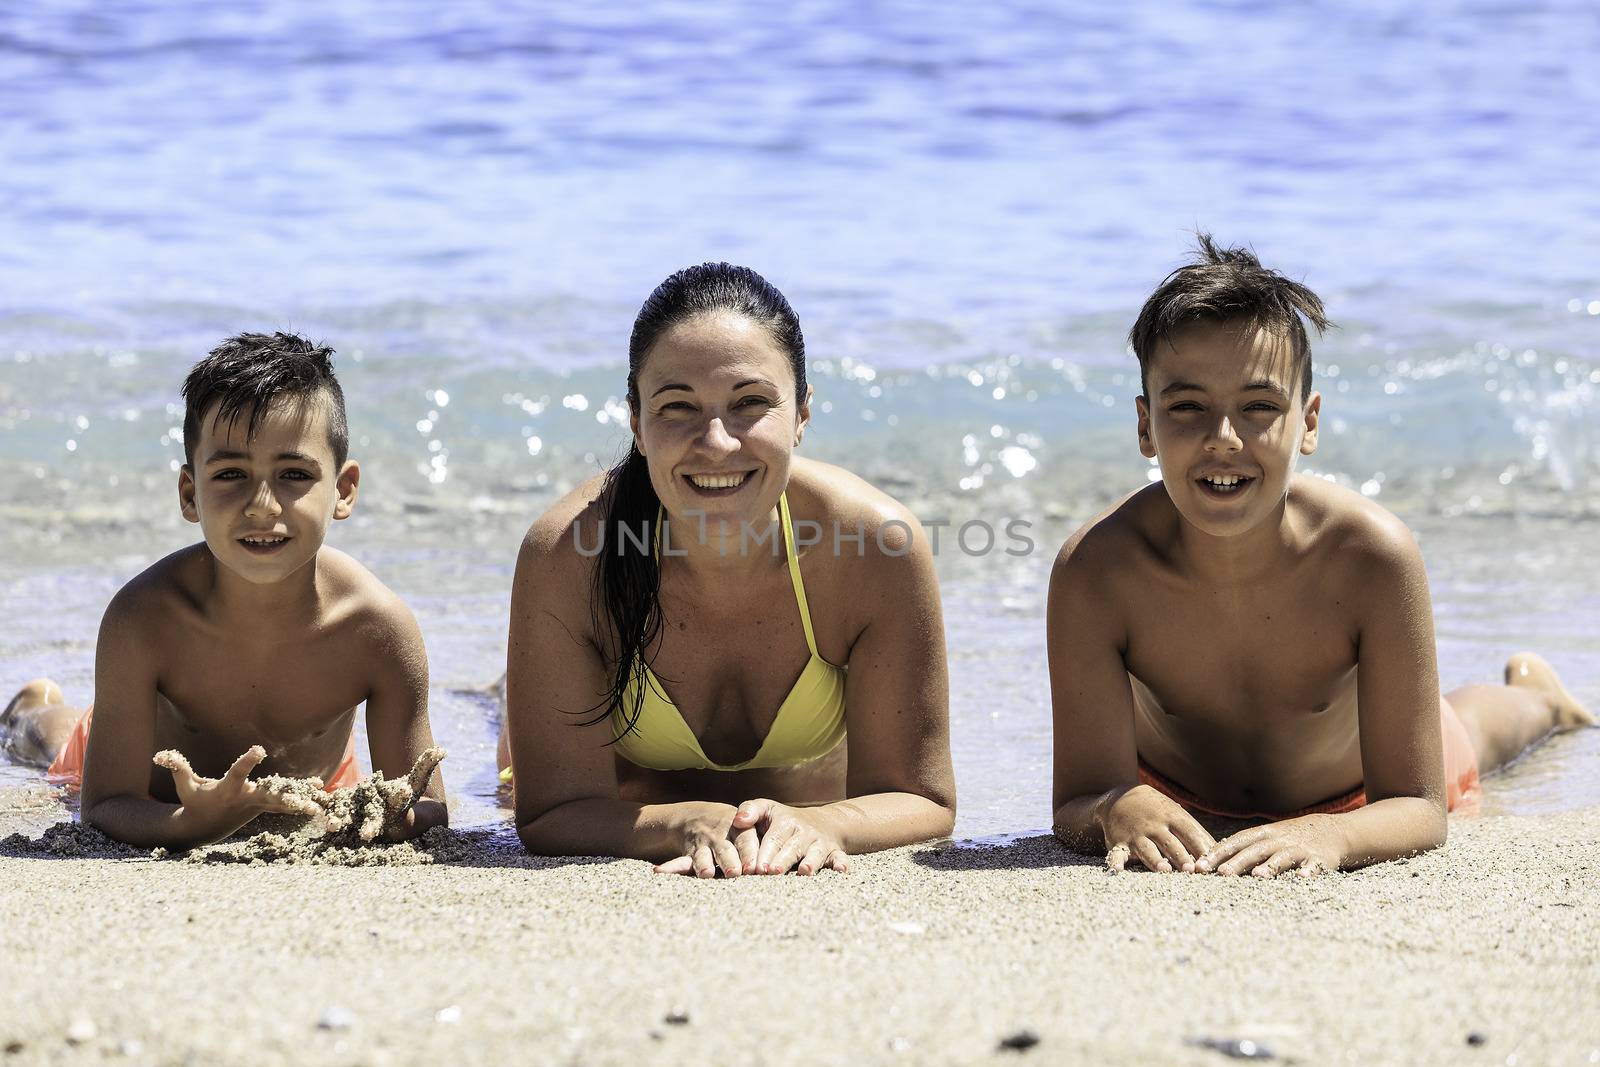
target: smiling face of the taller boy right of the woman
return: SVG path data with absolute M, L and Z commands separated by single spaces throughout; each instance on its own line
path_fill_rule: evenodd
M 1139 397 L 1139 451 L 1157 459 L 1178 512 L 1226 537 L 1272 517 L 1298 456 L 1317 450 L 1322 397 L 1301 402 L 1286 339 L 1197 322 L 1162 342 Z

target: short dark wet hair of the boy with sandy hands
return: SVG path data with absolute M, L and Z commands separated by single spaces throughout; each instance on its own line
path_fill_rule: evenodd
M 333 466 L 350 454 L 350 430 L 344 419 L 344 390 L 333 374 L 333 349 L 293 333 L 242 333 L 211 349 L 184 379 L 184 461 L 194 467 L 200 443 L 200 419 L 218 405 L 216 419 L 246 418 L 254 437 L 261 419 L 278 400 L 309 402 L 326 397 L 328 445 Z

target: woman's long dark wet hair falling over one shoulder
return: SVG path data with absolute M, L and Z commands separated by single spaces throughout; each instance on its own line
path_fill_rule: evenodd
M 638 309 L 627 341 L 627 403 L 635 416 L 640 402 L 638 371 L 656 341 L 672 326 L 712 312 L 734 312 L 763 326 L 789 355 L 795 397 L 805 400 L 805 336 L 789 301 L 749 267 L 702 262 L 685 267 L 658 285 Z M 606 472 L 600 499 L 605 520 L 592 609 L 595 632 L 610 630 L 614 638 L 611 648 L 616 661 L 610 664 L 610 693 L 592 709 L 598 715 L 586 725 L 598 723 L 621 709 L 627 720 L 626 733 L 634 729 L 645 701 L 645 649 L 661 633 L 661 568 L 654 553 L 661 499 L 650 483 L 643 453 L 632 443 L 622 462 Z M 629 704 L 629 685 L 635 685 L 634 699 L 630 707 L 624 707 Z

